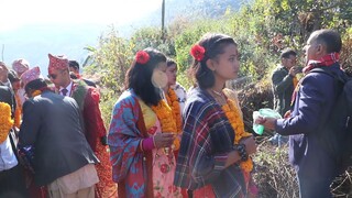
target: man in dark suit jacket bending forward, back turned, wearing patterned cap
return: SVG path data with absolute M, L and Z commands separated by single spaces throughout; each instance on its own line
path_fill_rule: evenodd
M 58 197 L 94 197 L 99 180 L 95 164 L 99 161 L 82 133 L 78 105 L 52 92 L 40 78 L 38 67 L 25 72 L 21 79 L 30 99 L 23 105 L 19 147 L 35 151 L 35 183 L 46 185 L 50 194 Z

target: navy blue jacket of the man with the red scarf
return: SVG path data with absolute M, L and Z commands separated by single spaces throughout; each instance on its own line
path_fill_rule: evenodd
M 326 67 L 343 75 L 338 63 Z M 289 136 L 289 161 L 296 169 L 316 169 L 327 174 L 334 169 L 333 157 L 319 140 L 324 123 L 331 119 L 331 110 L 337 100 L 336 80 L 322 73 L 308 73 L 300 81 L 292 117 L 276 121 L 275 130 Z M 318 170 L 317 170 L 318 172 Z

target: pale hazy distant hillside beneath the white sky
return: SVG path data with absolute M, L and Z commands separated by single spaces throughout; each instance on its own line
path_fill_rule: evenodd
M 179 15 L 189 19 L 218 18 L 228 8 L 237 10 L 240 3 L 234 0 L 166 0 L 165 25 Z M 121 36 L 129 37 L 142 26 L 161 25 L 161 15 L 162 3 L 155 12 L 116 29 Z M 22 57 L 31 66 L 40 66 L 43 75 L 46 75 L 48 53 L 65 54 L 68 58 L 82 63 L 87 56 L 84 47 L 96 46 L 99 36 L 107 29 L 107 24 L 36 24 L 0 32 L 0 61 L 10 66 L 14 59 Z

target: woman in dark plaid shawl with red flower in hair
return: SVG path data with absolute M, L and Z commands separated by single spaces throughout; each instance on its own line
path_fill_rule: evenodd
M 190 54 L 196 87 L 183 113 L 174 184 L 193 190 L 194 197 L 255 197 L 250 155 L 256 145 L 235 101 L 223 91 L 240 70 L 238 45 L 228 35 L 206 34 Z

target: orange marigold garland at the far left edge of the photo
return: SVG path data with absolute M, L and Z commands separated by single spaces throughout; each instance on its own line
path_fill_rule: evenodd
M 0 102 L 0 143 L 2 143 L 13 127 L 13 120 L 11 119 L 11 107 L 8 103 Z

